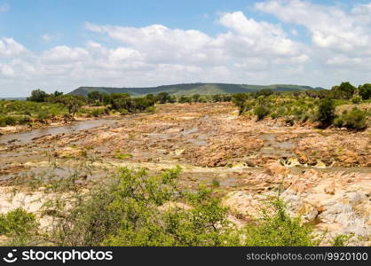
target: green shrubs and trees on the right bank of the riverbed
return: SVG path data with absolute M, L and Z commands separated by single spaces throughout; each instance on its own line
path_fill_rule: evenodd
M 353 108 L 351 112 L 337 114 L 336 108 L 343 105 L 360 106 L 368 104 L 371 86 L 356 87 L 350 82 L 334 86 L 332 90 L 306 90 L 277 92 L 260 90 L 252 93 L 232 95 L 232 101 L 240 114 L 256 115 L 257 121 L 265 117 L 282 118 L 287 125 L 296 122 L 317 123 L 320 128 L 329 126 L 345 127 L 353 130 L 367 128 L 369 111 Z

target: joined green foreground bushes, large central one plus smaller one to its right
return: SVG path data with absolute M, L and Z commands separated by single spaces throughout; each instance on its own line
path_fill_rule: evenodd
M 317 245 L 312 229 L 302 225 L 299 218 L 289 217 L 280 200 L 275 200 L 271 213 L 264 212 L 257 223 L 238 229 L 228 219 L 228 208 L 211 190 L 179 189 L 179 170 L 172 168 L 161 175 L 149 175 L 144 169 L 121 168 L 117 176 L 89 192 L 73 190 L 71 198 L 49 202 L 48 213 L 55 214 L 58 221 L 50 233 L 50 243 L 57 246 Z

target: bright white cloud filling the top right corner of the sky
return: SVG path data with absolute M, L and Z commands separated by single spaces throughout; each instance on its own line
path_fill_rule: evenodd
M 354 16 L 338 7 L 299 0 L 272 0 L 256 4 L 257 10 L 306 27 L 312 35 L 313 44 L 333 51 L 367 50 L 371 43 L 371 30 L 364 26 L 366 19 L 359 20 L 359 17 L 369 16 L 370 6 L 355 7 L 352 13 L 358 16 Z

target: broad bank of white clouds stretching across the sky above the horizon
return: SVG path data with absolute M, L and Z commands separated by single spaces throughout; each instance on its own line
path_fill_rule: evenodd
M 217 19 L 219 33 L 208 35 L 158 24 L 124 27 L 87 22 L 84 28 L 91 40 L 40 52 L 3 37 L 0 85 L 28 93 L 35 88 L 68 91 L 82 85 L 241 82 L 330 87 L 343 79 L 367 82 L 371 4 L 346 11 L 308 1 L 272 0 L 255 7 L 280 23 L 254 20 L 243 12 L 222 12 Z M 301 41 L 297 40 L 297 25 L 306 28 L 309 42 L 303 41 L 302 29 Z M 105 44 L 94 35 L 100 40 L 103 35 Z M 48 37 L 42 36 L 45 42 Z M 13 95 L 15 90 L 6 91 Z

